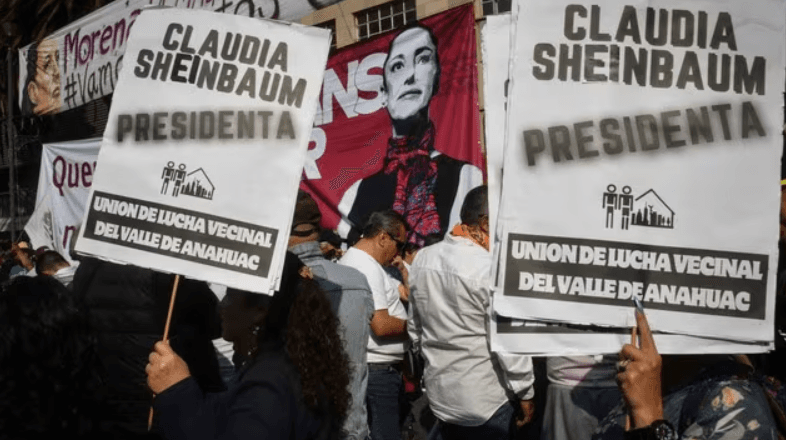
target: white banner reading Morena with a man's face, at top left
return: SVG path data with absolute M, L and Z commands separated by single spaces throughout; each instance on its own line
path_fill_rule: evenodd
M 198 9 L 297 22 L 337 0 L 122 0 L 19 49 L 19 107 L 26 115 L 70 110 L 112 94 L 126 41 L 145 7 Z

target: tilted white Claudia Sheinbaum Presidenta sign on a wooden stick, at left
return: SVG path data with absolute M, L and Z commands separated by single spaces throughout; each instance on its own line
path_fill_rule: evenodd
M 179 9 L 135 26 L 77 251 L 271 292 L 329 31 Z

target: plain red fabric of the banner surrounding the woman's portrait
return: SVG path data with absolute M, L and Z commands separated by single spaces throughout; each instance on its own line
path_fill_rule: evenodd
M 439 92 L 429 106 L 429 114 L 436 129 L 434 147 L 448 156 L 480 167 L 485 173 L 480 147 L 477 52 L 472 5 L 423 19 L 420 24 L 429 27 L 436 36 L 442 68 Z M 332 69 L 346 90 L 348 65 L 352 62 L 361 63 L 374 53 L 381 54 L 381 65 L 390 41 L 399 32 L 396 30 L 336 52 L 328 60 L 326 78 Z M 362 81 L 360 70 L 355 74 L 356 87 L 373 88 L 367 81 Z M 381 67 L 371 69 L 368 74 L 379 75 L 378 81 L 381 82 Z M 373 99 L 377 94 L 376 91 L 358 90 L 358 96 L 363 99 Z M 322 98 L 320 93 L 320 108 L 317 109 L 315 121 L 315 126 L 324 130 L 327 138 L 325 152 L 316 161 L 321 178 L 309 180 L 304 174 L 301 188 L 311 193 L 319 204 L 322 226 L 333 229 L 340 219 L 338 204 L 344 191 L 358 179 L 382 169 L 391 127 L 384 107 L 371 114 L 348 118 L 335 97 L 331 100 L 332 122 L 319 125 L 320 115 L 325 115 L 324 109 L 320 113 Z M 309 149 L 313 150 L 315 145 L 312 140 Z

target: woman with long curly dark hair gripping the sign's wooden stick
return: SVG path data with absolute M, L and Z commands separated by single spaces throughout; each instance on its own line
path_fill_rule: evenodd
M 272 297 L 227 289 L 223 337 L 234 344 L 237 382 L 205 394 L 167 342 L 147 366 L 155 425 L 173 439 L 328 439 L 340 435 L 349 404 L 349 363 L 338 319 L 316 282 L 287 253 Z

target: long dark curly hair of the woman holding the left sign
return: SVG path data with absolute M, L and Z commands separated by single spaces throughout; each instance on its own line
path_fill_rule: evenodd
M 351 398 L 349 358 L 330 301 L 316 281 L 300 275 L 304 267 L 295 254 L 287 252 L 279 291 L 272 299 L 253 295 L 268 303 L 260 344 L 283 340 L 287 356 L 300 375 L 306 406 L 317 412 L 327 407 L 336 420 L 343 421 Z

